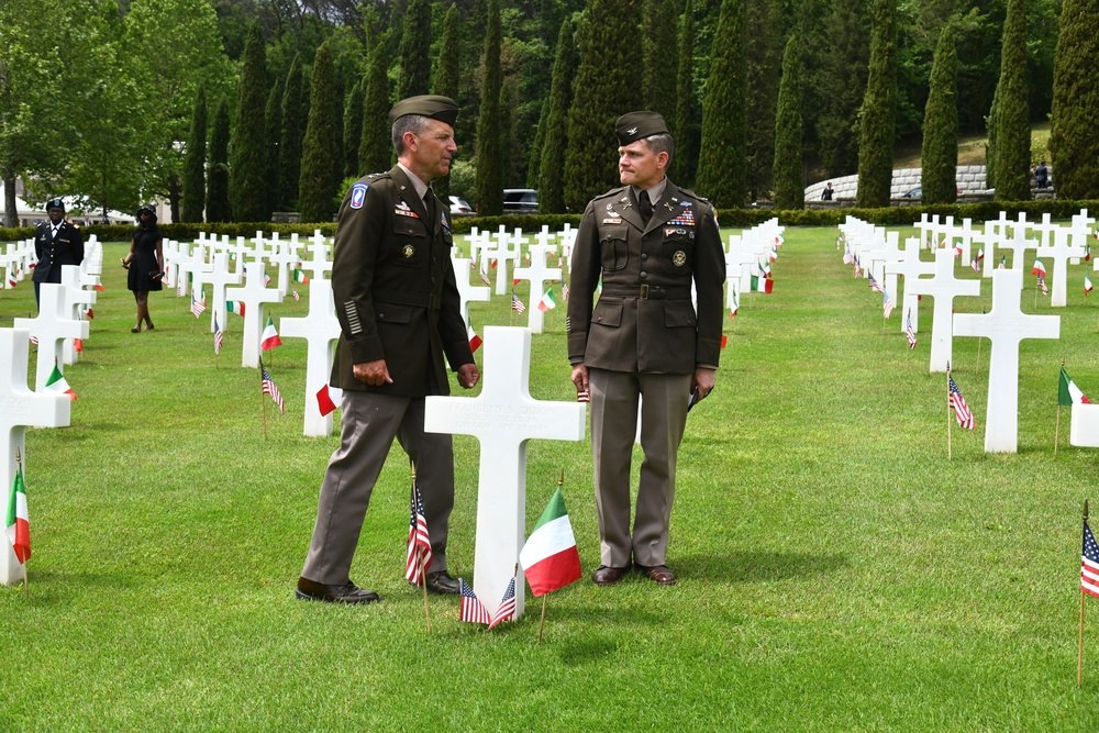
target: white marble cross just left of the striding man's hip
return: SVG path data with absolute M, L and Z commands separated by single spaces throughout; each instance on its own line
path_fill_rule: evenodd
M 304 435 L 331 435 L 332 413 L 321 414 L 317 392 L 329 384 L 332 356 L 340 340 L 340 320 L 332 306 L 332 282 L 322 278 L 309 281 L 309 314 L 304 318 L 285 318 L 279 322 L 282 338 L 304 338 L 306 353 L 306 417 Z

